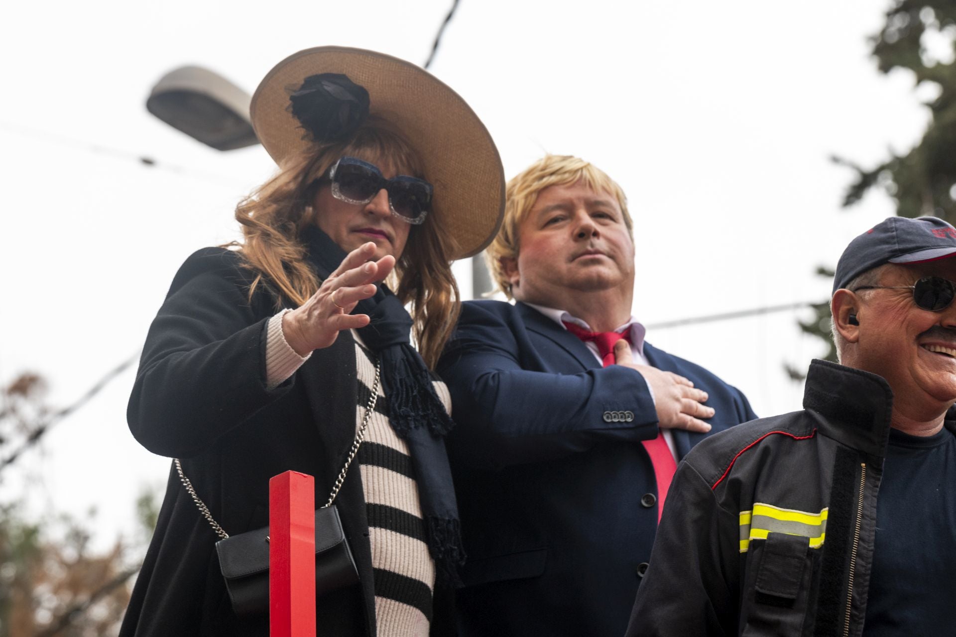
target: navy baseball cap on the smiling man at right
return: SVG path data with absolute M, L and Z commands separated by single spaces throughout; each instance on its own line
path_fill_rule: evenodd
M 922 264 L 956 256 L 956 228 L 938 217 L 890 217 L 850 242 L 836 264 L 834 289 L 883 264 Z

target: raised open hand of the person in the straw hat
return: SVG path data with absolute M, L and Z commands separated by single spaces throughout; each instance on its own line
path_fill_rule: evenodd
M 282 317 L 282 333 L 298 355 L 329 347 L 342 329 L 368 325 L 368 314 L 349 312 L 362 299 L 374 296 L 377 290 L 374 284 L 395 267 L 395 257 L 386 255 L 379 261 L 369 261 L 373 254 L 374 243 L 359 245 L 346 255 L 308 301 Z

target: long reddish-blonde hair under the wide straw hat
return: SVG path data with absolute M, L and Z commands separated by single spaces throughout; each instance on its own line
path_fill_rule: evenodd
M 385 163 L 408 174 L 427 179 L 423 162 L 412 146 L 384 122 L 370 118 L 350 137 L 327 144 L 313 144 L 309 152 L 287 161 L 236 206 L 236 221 L 242 224 L 245 241 L 239 246 L 247 266 L 255 273 L 250 299 L 265 286 L 279 298 L 302 305 L 320 282 L 306 262 L 300 233 L 315 223 L 320 210 L 312 210 L 315 180 L 325 175 L 342 156 Z M 452 239 L 445 231 L 441 202 L 433 202 L 428 218 L 412 226 L 402 257 L 395 265 L 395 294 L 402 304 L 411 304 L 412 329 L 425 364 L 434 368 L 461 311 L 458 286 L 451 273 Z

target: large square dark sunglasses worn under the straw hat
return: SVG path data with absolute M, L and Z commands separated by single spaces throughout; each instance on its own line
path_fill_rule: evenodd
M 399 175 L 390 180 L 381 176 L 375 164 L 343 157 L 338 159 L 329 170 L 332 181 L 332 196 L 341 202 L 364 205 L 375 199 L 384 188 L 388 192 L 388 207 L 392 214 L 403 222 L 424 222 L 431 206 L 432 185 L 407 175 Z

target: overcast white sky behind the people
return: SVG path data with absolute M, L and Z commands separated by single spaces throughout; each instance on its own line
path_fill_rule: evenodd
M 271 173 L 261 147 L 217 153 L 150 116 L 144 100 L 162 74 L 199 64 L 251 92 L 280 59 L 322 44 L 423 63 L 449 6 L 7 6 L 0 382 L 32 370 L 49 379 L 54 405 L 72 402 L 141 347 L 178 265 L 236 237 L 235 203 Z M 841 211 L 851 175 L 828 160 L 872 165 L 923 132 L 911 76 L 878 74 L 867 55 L 887 6 L 461 0 L 431 70 L 484 119 L 509 178 L 547 151 L 589 159 L 619 181 L 636 223 L 634 311 L 653 325 L 824 299 L 830 284 L 815 266 L 833 265 L 892 214 L 881 194 Z M 806 316 L 650 329 L 647 338 L 772 414 L 800 407 L 784 362 L 805 367 L 821 351 L 795 325 Z M 120 376 L 20 463 L 41 476 L 45 488 L 32 493 L 48 494 L 33 501 L 37 512 L 96 506 L 100 542 L 130 532 L 138 491 L 160 488 L 168 471 L 126 428 L 132 378 Z M 22 488 L 11 477 L 0 499 Z

